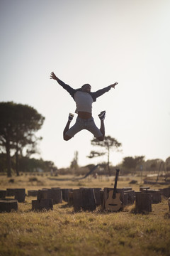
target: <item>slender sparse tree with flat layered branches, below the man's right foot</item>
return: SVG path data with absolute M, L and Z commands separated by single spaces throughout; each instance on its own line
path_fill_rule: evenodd
M 98 141 L 98 139 L 96 139 L 96 138 L 92 139 L 91 144 L 93 146 L 102 146 L 106 149 L 106 152 L 104 152 L 104 153 L 91 151 L 90 158 L 97 156 L 97 154 L 98 154 L 98 156 L 107 154 L 107 156 L 108 156 L 108 161 L 107 161 L 108 174 L 109 174 L 109 176 L 111 176 L 111 169 L 110 169 L 111 149 L 113 149 L 113 148 L 118 149 L 118 147 L 122 146 L 122 144 L 120 142 L 118 142 L 115 138 L 111 137 L 110 135 L 106 136 L 105 139 L 103 140 L 103 142 Z

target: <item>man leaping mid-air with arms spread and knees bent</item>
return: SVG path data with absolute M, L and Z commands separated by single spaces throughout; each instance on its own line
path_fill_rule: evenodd
M 101 90 L 96 92 L 91 92 L 91 85 L 85 84 L 81 86 L 79 89 L 73 89 L 71 86 L 62 82 L 54 72 L 51 73 L 50 79 L 56 80 L 59 85 L 61 85 L 69 94 L 73 97 L 76 102 L 76 111 L 78 114 L 76 123 L 69 128 L 70 123 L 74 117 L 74 114 L 69 113 L 69 119 L 67 121 L 66 127 L 64 128 L 63 138 L 64 140 L 69 140 L 74 137 L 77 132 L 80 132 L 82 129 L 87 129 L 89 132 L 94 134 L 94 137 L 99 141 L 103 141 L 105 137 L 105 127 L 104 127 L 104 119 L 106 117 L 106 111 L 102 111 L 98 114 L 98 117 L 101 119 L 101 128 L 98 129 L 94 122 L 94 118 L 92 117 L 92 104 L 96 102 L 96 98 L 103 95 L 105 92 L 111 90 L 111 88 L 115 88 L 115 85 L 118 85 L 118 82 L 115 82 L 113 85 L 109 85 Z

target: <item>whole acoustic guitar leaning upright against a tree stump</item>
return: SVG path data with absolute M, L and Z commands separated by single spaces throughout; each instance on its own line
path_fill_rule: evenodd
M 119 171 L 120 171 L 119 169 L 116 169 L 115 185 L 113 190 L 109 191 L 108 193 L 108 199 L 106 200 L 106 203 L 105 203 L 106 210 L 112 210 L 112 211 L 120 210 L 120 207 L 122 204 L 122 202 L 120 201 L 120 193 L 116 193 Z

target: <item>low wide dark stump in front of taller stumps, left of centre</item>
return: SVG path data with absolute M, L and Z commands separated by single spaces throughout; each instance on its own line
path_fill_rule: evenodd
M 32 210 L 53 210 L 52 199 L 32 200 Z

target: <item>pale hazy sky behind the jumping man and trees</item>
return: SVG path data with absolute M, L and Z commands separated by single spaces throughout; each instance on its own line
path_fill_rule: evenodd
M 170 156 L 169 24 L 169 0 L 0 0 L 0 101 L 28 104 L 45 117 L 38 158 L 58 168 L 69 166 L 74 151 L 80 166 L 107 161 L 86 157 L 103 149 L 85 130 L 62 139 L 75 102 L 51 71 L 91 91 L 118 81 L 93 105 L 96 125 L 106 110 L 106 135 L 122 143 L 111 164 Z

